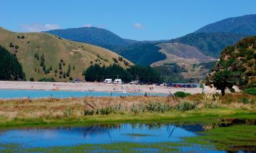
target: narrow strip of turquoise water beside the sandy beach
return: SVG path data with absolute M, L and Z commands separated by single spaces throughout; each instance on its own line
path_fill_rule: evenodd
M 96 92 L 96 91 L 66 91 L 66 90 L 0 90 L 0 99 L 14 98 L 69 98 L 69 97 L 119 97 L 143 96 L 143 92 Z M 148 94 L 147 94 L 148 95 Z M 167 96 L 167 94 L 154 94 L 150 96 Z

